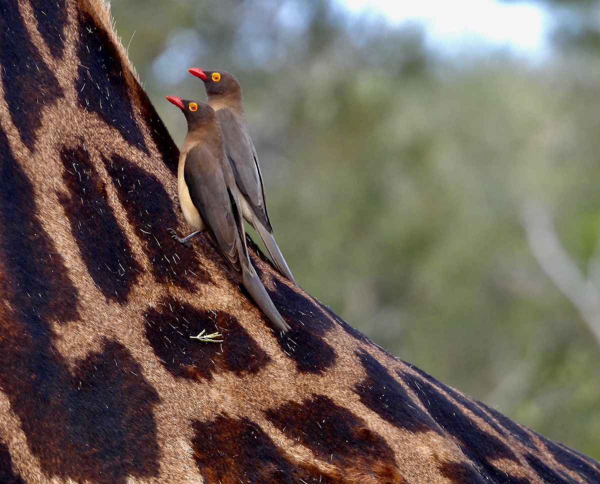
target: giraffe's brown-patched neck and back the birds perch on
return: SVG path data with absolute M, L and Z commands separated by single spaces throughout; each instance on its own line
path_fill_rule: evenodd
M 0 482 L 600 483 L 205 237 L 103 0 L 0 1 Z M 190 338 L 217 329 L 221 344 Z

